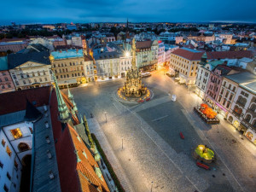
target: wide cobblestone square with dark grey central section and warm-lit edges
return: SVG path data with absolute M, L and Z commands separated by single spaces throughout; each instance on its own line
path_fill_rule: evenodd
M 246 139 L 231 143 L 237 133 L 224 129 L 231 127 L 225 121 L 218 126 L 204 124 L 193 112 L 201 100 L 160 72 L 143 82 L 154 91 L 154 99 L 141 105 L 114 100 L 113 90 L 124 84 L 122 80 L 71 89 L 79 112 L 94 114 L 98 140 L 103 148 L 108 140 L 105 150 L 112 150 L 122 166 L 125 186 L 132 185 L 127 191 L 150 191 L 151 182 L 153 191 L 254 191 L 255 157 L 242 144 Z M 171 102 L 170 91 L 177 102 Z M 195 166 L 190 156 L 191 148 L 200 143 L 217 152 L 211 171 Z

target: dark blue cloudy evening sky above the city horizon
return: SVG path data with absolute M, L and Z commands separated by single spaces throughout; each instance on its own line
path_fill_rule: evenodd
M 0 25 L 55 22 L 256 22 L 256 1 L 238 0 L 5 0 Z

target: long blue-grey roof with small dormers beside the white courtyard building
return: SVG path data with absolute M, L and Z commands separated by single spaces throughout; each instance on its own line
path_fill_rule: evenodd
M 44 108 L 41 108 L 44 113 Z M 47 112 L 49 113 L 49 112 Z M 61 192 L 61 184 L 58 172 L 57 159 L 55 154 L 55 141 L 51 129 L 45 128 L 45 122 L 50 122 L 49 116 L 39 119 L 34 124 L 33 131 L 33 153 L 32 160 L 32 191 L 56 191 Z M 49 143 L 45 137 L 49 137 Z M 50 155 L 50 157 L 49 157 Z M 49 174 L 52 173 L 54 178 L 50 179 Z

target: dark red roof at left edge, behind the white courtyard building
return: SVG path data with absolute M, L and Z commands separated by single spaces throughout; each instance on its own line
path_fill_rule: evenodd
M 29 90 L 17 90 L 0 95 L 0 115 L 14 113 L 26 109 L 26 98 L 35 107 L 49 104 L 51 86 L 39 87 Z

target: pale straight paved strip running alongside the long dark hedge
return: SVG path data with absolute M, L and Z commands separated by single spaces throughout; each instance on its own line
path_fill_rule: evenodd
M 113 167 L 113 172 L 119 178 L 119 182 L 123 186 L 126 192 L 134 192 L 132 185 L 129 179 L 126 177 L 125 172 L 122 166 L 119 163 L 119 160 L 116 158 L 115 154 L 113 153 L 113 149 L 111 148 L 110 144 L 108 143 L 108 139 L 105 136 L 104 132 L 102 131 L 101 126 L 99 125 L 96 118 L 87 119 L 88 126 L 90 127 L 90 132 L 96 135 L 98 141 L 101 142 L 102 148 L 104 148 L 104 152 L 108 157 L 108 160 Z

